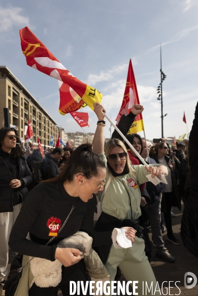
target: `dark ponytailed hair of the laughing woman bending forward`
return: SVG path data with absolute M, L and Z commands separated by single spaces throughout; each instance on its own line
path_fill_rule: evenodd
M 98 168 L 105 168 L 104 161 L 91 150 L 91 144 L 80 145 L 68 158 L 60 174 L 43 182 L 63 183 L 71 182 L 77 174 L 81 173 L 86 178 L 98 175 Z

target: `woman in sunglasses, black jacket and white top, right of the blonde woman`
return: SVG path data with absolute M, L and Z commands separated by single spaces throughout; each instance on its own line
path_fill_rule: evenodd
M 175 162 L 168 156 L 168 146 L 165 142 L 159 142 L 154 147 L 152 147 L 149 156 L 155 159 L 157 163 L 166 166 L 168 170 L 169 175 L 166 178 L 168 184 L 163 184 L 163 196 L 165 200 L 164 220 L 167 228 L 166 239 L 174 245 L 180 245 L 180 242 L 173 235 L 170 214 L 172 206 L 176 206 L 179 208 L 179 210 L 181 210 L 181 197 L 179 194 L 179 186 L 177 183 L 178 172 L 175 167 Z

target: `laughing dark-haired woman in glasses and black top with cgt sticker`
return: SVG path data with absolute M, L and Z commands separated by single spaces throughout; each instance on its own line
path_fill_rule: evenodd
M 103 240 L 112 243 L 111 231 L 102 239 L 93 232 L 96 197 L 92 193 L 103 190 L 105 178 L 104 162 L 91 151 L 90 144 L 83 144 L 68 158 L 56 178 L 40 183 L 28 194 L 12 229 L 9 246 L 20 254 L 51 261 L 57 259 L 63 264 L 62 280 L 56 287 L 41 288 L 34 283 L 30 296 L 53 296 L 59 288 L 68 296 L 70 281 L 83 281 L 85 285 L 88 278 L 81 252 L 75 248 L 57 247 L 64 238 L 81 230 L 93 236 L 93 245 L 101 244 Z M 59 235 L 58 231 L 70 213 Z M 28 232 L 32 241 L 26 239 Z M 52 236 L 55 236 L 53 242 L 45 246 Z M 81 290 L 80 295 L 83 295 Z

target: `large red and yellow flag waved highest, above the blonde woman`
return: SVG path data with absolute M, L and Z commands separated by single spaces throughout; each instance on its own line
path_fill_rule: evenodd
M 84 102 L 92 110 L 95 102 L 101 102 L 102 94 L 70 73 L 28 27 L 20 30 L 20 38 L 22 52 L 26 57 L 27 65 L 61 82 L 59 89 L 61 87 L 63 89 L 61 89 L 62 95 L 59 111 L 62 115 L 78 110 Z M 67 100 L 63 100 L 64 92 L 70 94 Z

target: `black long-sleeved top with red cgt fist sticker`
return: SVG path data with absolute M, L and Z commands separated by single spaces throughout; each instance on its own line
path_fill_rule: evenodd
M 58 230 L 66 220 L 72 206 L 75 205 L 60 234 Z M 95 232 L 93 230 L 93 216 L 96 197 L 83 202 L 79 197 L 70 196 L 63 184 L 42 183 L 37 185 L 26 196 L 25 202 L 12 228 L 9 246 L 18 253 L 50 259 L 51 246 L 44 246 L 54 235 L 57 237 L 53 244 L 61 239 L 73 235 L 79 230 L 93 236 L 93 245 L 112 243 L 111 231 Z M 26 239 L 30 232 L 32 241 Z

